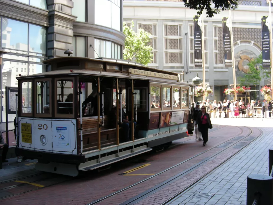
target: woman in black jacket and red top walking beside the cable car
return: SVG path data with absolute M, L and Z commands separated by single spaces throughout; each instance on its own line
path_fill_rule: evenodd
M 198 125 L 199 132 L 202 133 L 203 146 L 208 142 L 208 129 L 212 129 L 212 124 L 210 121 L 210 115 L 206 113 L 206 106 L 202 106 L 201 112 L 198 113 L 195 127 Z

